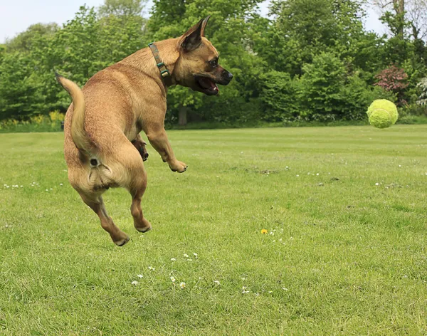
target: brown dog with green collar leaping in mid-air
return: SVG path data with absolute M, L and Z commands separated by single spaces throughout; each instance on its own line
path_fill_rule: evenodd
M 101 195 L 108 188 L 130 191 L 135 228 L 151 229 L 141 209 L 147 186 L 142 161 L 148 154 L 139 132 L 145 132 L 170 169 L 181 173 L 187 168 L 176 159 L 164 130 L 167 87 L 179 84 L 216 95 L 216 83 L 227 85 L 233 78 L 218 65 L 218 52 L 204 37 L 208 20 L 199 21 L 179 38 L 156 42 L 96 73 L 83 90 L 57 75 L 73 98 L 65 117 L 68 179 L 118 246 L 129 236 L 105 210 Z

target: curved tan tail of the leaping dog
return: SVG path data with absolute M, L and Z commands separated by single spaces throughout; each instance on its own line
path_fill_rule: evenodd
M 75 147 L 89 154 L 90 148 L 93 146 L 91 146 L 91 142 L 85 132 L 85 96 L 83 95 L 83 91 L 77 84 L 61 76 L 59 73 L 55 73 L 55 75 L 58 83 L 73 99 L 74 111 L 71 118 L 71 137 L 73 138 Z

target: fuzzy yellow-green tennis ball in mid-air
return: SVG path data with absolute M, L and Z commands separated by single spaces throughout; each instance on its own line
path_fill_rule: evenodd
M 394 125 L 399 117 L 397 107 L 390 100 L 378 99 L 368 107 L 369 124 L 376 128 L 386 128 Z

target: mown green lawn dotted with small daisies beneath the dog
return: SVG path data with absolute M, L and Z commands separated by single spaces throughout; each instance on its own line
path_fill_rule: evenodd
M 149 147 L 153 231 L 105 194 L 119 248 L 62 133 L 0 135 L 0 335 L 426 335 L 427 126 L 169 137 L 189 170 Z

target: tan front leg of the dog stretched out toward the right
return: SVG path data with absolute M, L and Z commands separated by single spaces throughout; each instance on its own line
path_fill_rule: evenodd
M 164 127 L 152 127 L 147 130 L 147 137 L 149 143 L 159 152 L 163 162 L 169 164 L 169 168 L 172 172 L 182 173 L 186 171 L 187 165 L 176 159 Z

